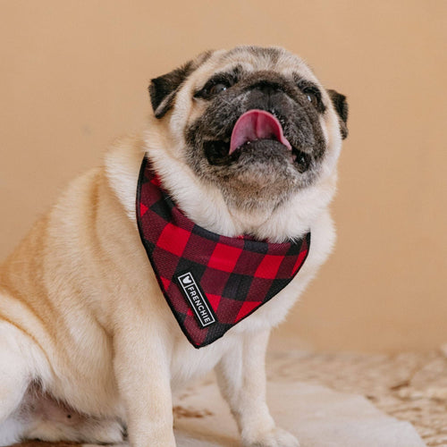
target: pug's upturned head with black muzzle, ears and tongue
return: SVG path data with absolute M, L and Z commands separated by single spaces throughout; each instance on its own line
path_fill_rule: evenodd
M 207 52 L 152 80 L 171 155 L 228 207 L 274 209 L 334 172 L 346 98 L 279 47 Z

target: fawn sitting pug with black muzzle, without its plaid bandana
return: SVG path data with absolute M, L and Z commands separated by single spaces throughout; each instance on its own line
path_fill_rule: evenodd
M 147 131 L 73 181 L 1 266 L 0 445 L 173 447 L 173 392 L 215 368 L 243 445 L 297 446 L 266 404 L 266 346 L 333 248 L 346 98 L 298 56 L 258 46 L 198 55 L 149 92 Z M 210 234 L 282 244 L 311 233 L 290 283 L 200 349 L 141 242 L 143 157 Z

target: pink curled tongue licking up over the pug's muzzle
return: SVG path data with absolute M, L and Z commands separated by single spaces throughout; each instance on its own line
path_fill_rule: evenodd
M 249 110 L 240 115 L 232 130 L 230 154 L 248 141 L 255 139 L 276 139 L 291 149 L 291 143 L 284 137 L 281 122 L 265 110 Z

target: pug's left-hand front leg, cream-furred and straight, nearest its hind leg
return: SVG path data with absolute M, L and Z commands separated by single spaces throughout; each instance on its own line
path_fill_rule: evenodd
M 161 333 L 148 320 L 115 335 L 115 375 L 132 447 L 175 447 L 169 349 Z

